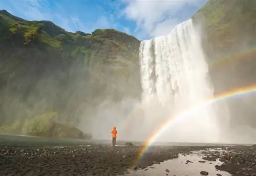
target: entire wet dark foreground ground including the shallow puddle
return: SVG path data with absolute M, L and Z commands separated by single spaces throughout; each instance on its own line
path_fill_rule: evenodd
M 201 175 L 200 171 L 206 171 L 208 175 L 228 175 L 215 168 L 233 175 L 256 175 L 256 147 L 206 148 L 216 146 L 153 146 L 137 160 L 139 146 L 118 146 L 113 151 L 110 145 L 38 147 L 2 144 L 0 175 L 129 175 L 127 171 L 130 175 L 193 176 Z M 193 154 L 199 150 L 203 151 Z M 216 161 L 218 158 L 224 164 Z M 191 162 L 186 163 L 186 160 Z

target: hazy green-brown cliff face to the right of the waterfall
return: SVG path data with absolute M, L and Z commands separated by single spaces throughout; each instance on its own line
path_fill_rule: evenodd
M 256 83 L 255 15 L 255 1 L 209 0 L 193 16 L 216 94 Z M 255 103 L 254 94 L 227 99 L 231 123 L 256 127 Z

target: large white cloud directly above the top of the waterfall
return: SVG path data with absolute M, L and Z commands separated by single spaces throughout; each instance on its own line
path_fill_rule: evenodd
M 184 14 L 187 14 L 186 10 L 195 13 L 195 10 L 191 8 L 198 9 L 205 2 L 206 0 L 123 0 L 125 8 L 122 14 L 127 19 L 136 21 L 135 32 L 140 37 L 156 37 L 169 33 L 178 23 L 182 22 Z M 188 13 L 188 15 L 192 14 Z

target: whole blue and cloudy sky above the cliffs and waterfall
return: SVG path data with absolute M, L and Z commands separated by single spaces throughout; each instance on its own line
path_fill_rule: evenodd
M 50 20 L 70 31 L 116 29 L 140 40 L 166 35 L 207 0 L 0 0 L 0 9 L 27 20 Z

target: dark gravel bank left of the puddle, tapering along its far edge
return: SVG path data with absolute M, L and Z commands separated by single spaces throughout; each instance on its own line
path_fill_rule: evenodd
M 150 147 L 136 162 L 140 147 L 106 145 L 33 147 L 0 145 L 1 175 L 118 175 L 146 168 L 179 153 L 205 147 Z

